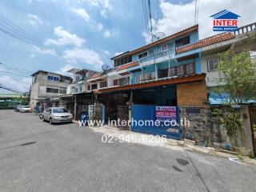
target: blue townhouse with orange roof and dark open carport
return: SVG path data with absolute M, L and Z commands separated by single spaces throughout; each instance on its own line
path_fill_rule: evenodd
M 198 41 L 196 25 L 115 56 L 114 70 L 107 74 L 108 87 L 94 93 L 99 94 L 100 102 L 106 103 L 106 110 L 114 111 L 115 118 L 119 118 L 118 114 L 128 114 L 130 104 L 179 106 L 184 116 L 210 114 L 201 50 L 177 51 Z M 194 122 L 194 129 L 201 132 L 198 140 L 204 140 L 204 132 L 210 132 L 208 116 L 201 124 Z

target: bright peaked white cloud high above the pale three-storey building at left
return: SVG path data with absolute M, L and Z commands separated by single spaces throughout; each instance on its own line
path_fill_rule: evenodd
M 65 45 L 74 45 L 74 46 L 82 46 L 85 42 L 83 38 L 78 38 L 76 34 L 70 34 L 70 32 L 63 29 L 62 26 L 57 26 L 54 28 L 54 34 L 56 34 L 59 38 L 46 39 L 46 45 L 54 44 L 56 46 L 65 46 Z

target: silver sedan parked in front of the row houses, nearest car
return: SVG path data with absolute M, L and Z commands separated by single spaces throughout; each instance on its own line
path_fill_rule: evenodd
M 50 107 L 43 111 L 42 120 L 50 122 L 53 124 L 54 122 L 72 122 L 73 114 L 71 114 L 68 110 L 63 107 Z

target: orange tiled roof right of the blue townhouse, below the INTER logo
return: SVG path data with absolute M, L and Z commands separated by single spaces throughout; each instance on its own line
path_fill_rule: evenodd
M 187 45 L 187 46 L 178 47 L 178 48 L 176 48 L 176 54 L 181 54 L 181 53 L 189 51 L 189 50 L 195 50 L 195 49 L 201 48 L 203 46 L 210 46 L 214 43 L 224 42 L 231 38 L 234 38 L 234 34 L 232 34 L 230 32 L 224 33 L 224 34 L 217 34 L 210 38 L 202 39 L 199 42 L 195 42 L 195 43 Z

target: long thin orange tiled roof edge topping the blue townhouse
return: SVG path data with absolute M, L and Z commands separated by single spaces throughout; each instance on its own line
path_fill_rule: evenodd
M 142 46 L 142 47 L 138 48 L 137 50 L 133 50 L 129 54 L 136 54 L 138 52 L 141 52 L 142 50 L 146 50 L 146 49 L 148 49 L 148 48 L 150 48 L 152 46 L 156 46 L 156 45 L 158 45 L 160 43 L 167 42 L 167 41 L 169 41 L 171 39 L 174 39 L 174 38 L 179 38 L 179 37 L 181 37 L 183 35 L 186 35 L 186 34 L 190 34 L 191 32 L 196 31 L 196 30 L 198 30 L 198 25 L 191 26 L 191 27 L 189 27 L 189 28 L 187 28 L 185 30 L 179 31 L 178 33 L 171 34 L 170 36 L 168 36 L 166 38 L 159 39 L 156 42 L 152 42 L 152 43 L 150 43 L 150 44 L 148 44 L 146 46 Z

